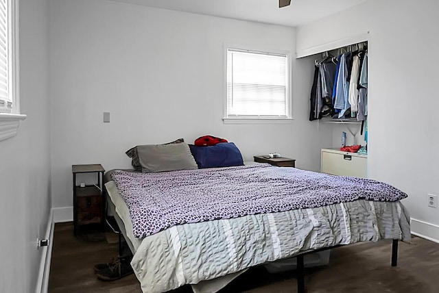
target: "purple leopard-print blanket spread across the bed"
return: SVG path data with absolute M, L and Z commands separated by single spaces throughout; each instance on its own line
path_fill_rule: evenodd
M 399 201 L 407 197 L 401 190 L 371 179 L 268 164 L 164 173 L 116 170 L 111 177 L 130 209 L 137 238 L 185 223 L 357 199 Z

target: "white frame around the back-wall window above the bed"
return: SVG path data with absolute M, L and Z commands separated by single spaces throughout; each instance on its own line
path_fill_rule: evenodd
M 286 94 L 286 117 L 276 116 L 228 116 L 227 97 L 227 61 L 228 50 L 248 51 L 249 53 L 265 53 L 270 55 L 285 55 L 287 58 L 287 94 Z M 224 124 L 263 124 L 263 123 L 292 123 L 292 53 L 284 49 L 261 48 L 258 46 L 246 46 L 243 44 L 224 43 Z

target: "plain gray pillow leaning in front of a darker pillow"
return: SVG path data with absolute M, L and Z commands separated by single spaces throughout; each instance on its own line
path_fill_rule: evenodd
M 137 154 L 144 173 L 198 169 L 191 149 L 185 142 L 137 146 Z

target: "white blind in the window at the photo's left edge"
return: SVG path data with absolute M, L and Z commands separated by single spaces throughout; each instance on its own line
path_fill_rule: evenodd
M 0 112 L 10 113 L 10 9 L 9 0 L 0 0 Z

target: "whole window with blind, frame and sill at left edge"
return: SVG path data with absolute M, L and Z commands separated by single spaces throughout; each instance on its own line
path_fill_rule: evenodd
M 19 0 L 0 0 L 0 140 L 15 136 L 19 121 Z

